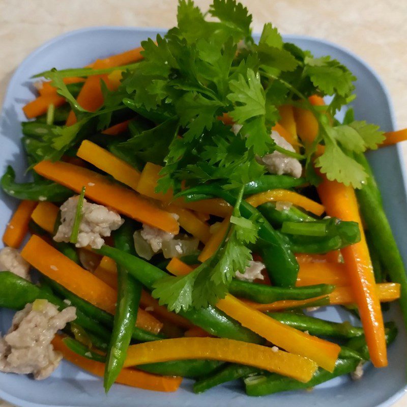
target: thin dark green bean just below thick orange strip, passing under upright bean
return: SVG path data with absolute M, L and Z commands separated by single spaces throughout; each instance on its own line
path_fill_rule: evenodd
M 96 321 L 100 322 L 104 326 L 111 328 L 113 326 L 113 315 L 110 315 L 108 312 L 103 311 L 102 309 L 95 307 L 88 301 L 83 300 L 82 298 L 76 296 L 75 294 L 71 293 L 62 285 L 52 281 L 46 277 L 44 279 L 51 285 L 51 287 L 58 293 L 60 296 L 69 300 L 72 305 L 74 305 L 77 309 L 80 309 L 86 315 L 89 315 L 91 318 L 96 319 Z M 110 336 L 109 336 L 110 337 Z M 158 340 L 165 338 L 161 334 L 153 334 L 148 331 L 144 331 L 143 329 L 134 327 L 132 339 L 137 342 L 148 342 L 152 340 Z

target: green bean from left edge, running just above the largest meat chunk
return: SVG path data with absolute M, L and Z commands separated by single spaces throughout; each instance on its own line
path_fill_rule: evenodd
M 23 309 L 25 304 L 32 303 L 38 299 L 48 300 L 60 309 L 69 306 L 47 289 L 38 287 L 9 271 L 0 273 L 0 307 L 19 310 Z M 103 326 L 82 313 L 79 309 L 76 310 L 75 323 L 104 339 L 108 340 L 110 337 L 110 333 Z

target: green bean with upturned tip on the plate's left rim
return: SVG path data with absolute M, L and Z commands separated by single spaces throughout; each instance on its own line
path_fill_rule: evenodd
M 61 202 L 73 195 L 73 192 L 52 181 L 36 181 L 18 184 L 15 181 L 14 169 L 9 165 L 0 180 L 4 192 L 17 199 L 48 200 Z

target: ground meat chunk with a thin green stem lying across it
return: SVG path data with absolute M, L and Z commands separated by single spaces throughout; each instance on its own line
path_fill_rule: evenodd
M 55 242 L 69 242 L 77 205 L 78 196 L 73 196 L 61 206 L 62 223 L 54 236 Z M 104 244 L 102 237 L 110 236 L 111 231 L 119 229 L 123 222 L 124 219 L 117 212 L 83 199 L 82 220 L 75 246 L 85 247 L 89 245 L 94 249 L 100 249 Z

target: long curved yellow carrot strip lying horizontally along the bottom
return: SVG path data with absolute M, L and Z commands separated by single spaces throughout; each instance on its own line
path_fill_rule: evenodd
M 270 318 L 272 319 L 272 318 Z M 220 338 L 174 338 L 130 345 L 124 366 L 184 359 L 213 359 L 258 367 L 308 382 L 316 364 L 271 347 Z

